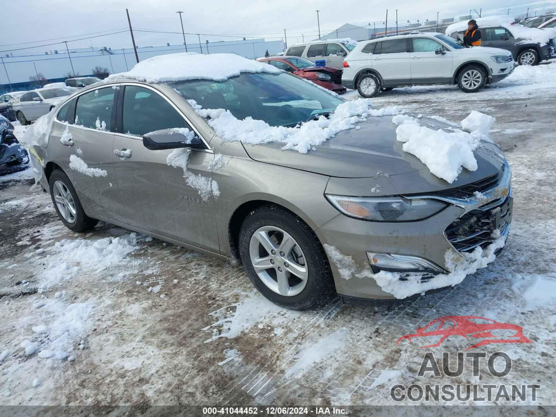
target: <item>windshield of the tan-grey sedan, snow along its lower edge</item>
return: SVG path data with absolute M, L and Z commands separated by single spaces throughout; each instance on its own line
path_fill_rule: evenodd
M 239 120 L 252 117 L 270 126 L 295 126 L 345 101 L 287 73 L 242 73 L 222 82 L 190 80 L 170 86 L 202 108 L 224 108 Z

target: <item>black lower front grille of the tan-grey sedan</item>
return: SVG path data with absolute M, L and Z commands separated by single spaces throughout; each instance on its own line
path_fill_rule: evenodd
M 505 197 L 471 210 L 446 228 L 446 239 L 461 252 L 471 252 L 477 246 L 484 249 L 496 239 L 493 236 L 495 230 L 498 229 L 502 235 L 507 234 L 512 222 L 512 209 L 513 198 Z

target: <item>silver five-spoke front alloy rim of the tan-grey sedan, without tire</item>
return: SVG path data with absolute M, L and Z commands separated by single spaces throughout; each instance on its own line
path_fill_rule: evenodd
M 251 265 L 276 294 L 294 296 L 307 285 L 309 268 L 295 239 L 279 227 L 263 226 L 251 236 Z

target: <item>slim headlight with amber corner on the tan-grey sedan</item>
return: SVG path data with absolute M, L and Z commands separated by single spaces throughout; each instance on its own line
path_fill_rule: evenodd
M 423 220 L 444 210 L 448 204 L 428 198 L 346 197 L 325 195 L 343 214 L 370 221 Z

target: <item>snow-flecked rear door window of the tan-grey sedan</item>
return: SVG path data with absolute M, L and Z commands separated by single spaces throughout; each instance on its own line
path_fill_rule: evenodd
M 112 108 L 116 91 L 112 87 L 98 88 L 77 97 L 76 125 L 112 131 Z

